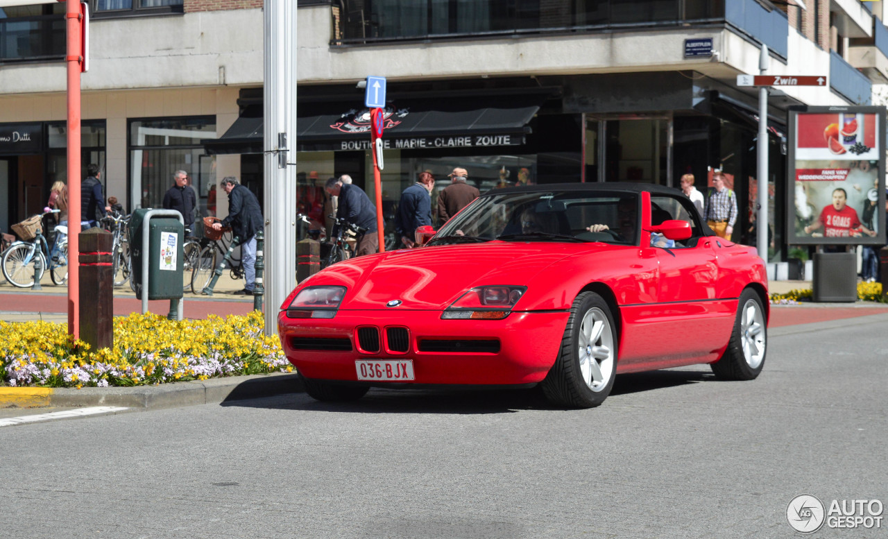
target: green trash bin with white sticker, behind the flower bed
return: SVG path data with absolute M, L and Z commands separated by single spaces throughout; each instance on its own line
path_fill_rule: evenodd
M 147 226 L 148 245 L 142 245 L 145 216 L 152 208 L 132 212 L 129 240 L 136 297 L 142 299 L 145 278 L 142 276 L 143 257 L 148 257 L 148 299 L 180 299 L 182 297 L 182 244 L 185 226 L 177 218 L 152 217 Z

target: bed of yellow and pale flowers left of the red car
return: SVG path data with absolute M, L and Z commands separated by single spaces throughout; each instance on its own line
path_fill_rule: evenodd
M 130 386 L 292 372 L 263 314 L 169 321 L 157 314 L 115 318 L 114 348 L 90 350 L 67 324 L 0 321 L 0 378 L 9 385 Z

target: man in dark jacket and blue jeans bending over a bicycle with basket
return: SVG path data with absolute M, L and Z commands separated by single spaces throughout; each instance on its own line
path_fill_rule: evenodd
M 247 284 L 234 294 L 252 296 L 256 288 L 256 233 L 262 228 L 262 209 L 256 195 L 239 184 L 234 176 L 222 178 L 222 188 L 228 194 L 228 217 L 222 219 L 221 223 L 213 223 L 213 228 L 222 230 L 224 226 L 231 226 L 232 234 L 240 239 Z

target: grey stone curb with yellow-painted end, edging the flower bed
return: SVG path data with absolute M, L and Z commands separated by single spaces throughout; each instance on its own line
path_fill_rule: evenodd
M 295 373 L 272 373 L 136 387 L 4 387 L 0 388 L 0 407 L 178 408 L 302 392 L 298 379 Z

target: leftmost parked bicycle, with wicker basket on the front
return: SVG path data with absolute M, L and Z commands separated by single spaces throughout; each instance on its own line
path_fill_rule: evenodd
M 4 250 L 0 261 L 3 275 L 12 286 L 20 289 L 34 286 L 35 276 L 40 281 L 47 268 L 53 284 L 63 285 L 67 282 L 67 226 L 56 226 L 57 234 L 65 234 L 65 239 L 59 241 L 58 254 L 52 257 L 50 243 L 43 234 L 43 218 L 55 213 L 59 213 L 59 210 L 46 211 L 43 215 L 34 215 L 12 225 L 12 231 L 18 234 L 20 241 L 13 242 Z

